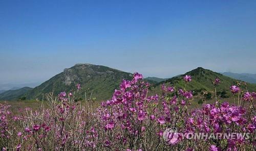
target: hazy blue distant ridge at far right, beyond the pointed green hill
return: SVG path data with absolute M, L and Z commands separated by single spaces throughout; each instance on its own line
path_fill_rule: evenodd
M 223 72 L 221 74 L 226 75 L 227 77 L 230 77 L 230 78 L 241 80 L 241 81 L 256 83 L 256 74 L 232 73 L 232 72 Z

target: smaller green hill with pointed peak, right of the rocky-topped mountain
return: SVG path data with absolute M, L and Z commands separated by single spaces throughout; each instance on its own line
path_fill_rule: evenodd
M 186 72 L 185 74 L 179 75 L 178 77 L 170 78 L 166 81 L 158 83 L 155 88 L 153 89 L 154 92 L 160 93 L 160 86 L 162 84 L 165 84 L 167 86 L 172 85 L 175 86 L 175 88 L 184 88 L 185 82 L 183 80 L 184 75 L 191 75 L 192 81 L 189 82 L 186 86 L 187 90 L 194 90 L 197 92 L 200 92 L 201 89 L 208 90 L 209 92 L 214 92 L 214 86 L 212 84 L 212 81 L 214 81 L 217 77 L 220 78 L 221 83 L 217 87 L 217 91 L 225 91 L 227 93 L 227 96 L 231 96 L 231 92 L 229 91 L 229 87 L 231 85 L 236 85 L 237 81 L 236 79 L 232 79 L 229 77 L 226 77 L 223 74 L 204 69 L 202 67 L 198 67 L 194 70 L 191 70 L 189 72 Z M 256 85 L 247 83 L 247 87 L 249 91 L 256 91 Z M 243 88 L 245 88 L 243 86 Z

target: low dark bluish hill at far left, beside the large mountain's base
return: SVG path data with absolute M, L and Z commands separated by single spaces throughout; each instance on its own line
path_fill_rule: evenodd
M 8 90 L 0 94 L 0 100 L 14 100 L 22 97 L 24 93 L 32 90 L 33 88 L 24 87 L 17 90 Z

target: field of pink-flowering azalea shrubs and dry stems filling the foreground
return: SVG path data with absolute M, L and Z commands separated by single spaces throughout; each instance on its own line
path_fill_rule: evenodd
M 191 77 L 186 75 L 184 80 L 188 83 Z M 217 88 L 219 82 L 217 78 L 213 86 Z M 13 115 L 3 104 L 0 147 L 127 151 L 255 148 L 255 92 L 231 86 L 233 104 L 220 103 L 217 97 L 215 104 L 206 104 L 205 97 L 201 109 L 189 110 L 191 91 L 163 85 L 162 95 L 148 96 L 149 87 L 142 75 L 135 73 L 133 80 L 123 80 L 113 97 L 96 109 L 87 99 L 84 106 L 75 99 L 76 93 L 82 93 L 80 85 L 76 91 L 61 92 L 57 97 L 47 94 L 49 107 L 39 110 L 25 108 Z M 249 103 L 248 108 L 244 102 Z

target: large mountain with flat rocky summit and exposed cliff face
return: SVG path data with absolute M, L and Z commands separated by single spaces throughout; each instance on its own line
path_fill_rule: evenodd
M 52 91 L 54 94 L 69 92 L 79 83 L 82 90 L 86 90 L 87 96 L 93 90 L 92 98 L 109 99 L 122 79 L 132 79 L 132 74 L 101 65 L 76 64 L 27 92 L 25 96 L 32 99 L 41 98 L 42 94 Z

